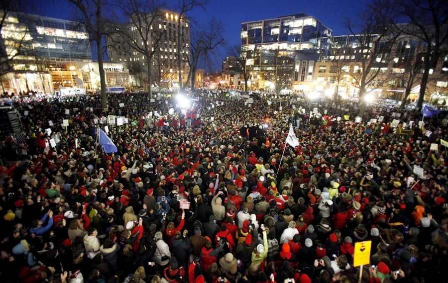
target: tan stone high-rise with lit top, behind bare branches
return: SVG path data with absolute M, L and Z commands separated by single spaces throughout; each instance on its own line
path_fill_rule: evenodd
M 153 67 L 151 69 L 152 84 L 161 87 L 171 87 L 179 83 L 178 48 L 181 48 L 182 52 L 181 72 L 184 84 L 190 70 L 187 58 L 190 56 L 190 22 L 182 20 L 181 42 L 178 43 L 178 16 L 173 11 L 160 10 L 155 15 L 156 18 L 149 27 L 151 31 L 149 38 L 153 39 L 152 44 L 155 43 L 155 38 L 158 38 L 159 33 L 163 32 L 152 58 Z M 129 32 L 134 42 L 141 42 L 143 44 L 137 27 L 134 24 L 128 23 L 121 28 Z M 132 48 L 132 42 L 119 34 L 109 37 L 108 42 L 114 46 L 109 48 L 111 61 L 127 64 L 132 81 L 139 87 L 146 87 L 148 83 L 147 61 L 144 54 Z M 121 44 L 117 44 L 117 42 L 121 42 Z

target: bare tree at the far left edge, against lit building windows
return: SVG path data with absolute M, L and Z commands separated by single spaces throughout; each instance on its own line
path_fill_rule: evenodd
M 13 12 L 17 11 L 18 2 L 16 0 L 1 0 L 0 1 L 0 34 L 5 37 L 3 29 L 8 28 L 9 25 L 14 25 L 16 31 L 19 33 L 18 37 L 11 36 L 8 37 L 8 46 L 6 48 L 5 41 L 0 42 L 0 78 L 13 71 L 12 61 L 21 53 L 24 48 L 25 42 L 29 40 L 28 27 L 20 23 L 9 23 L 7 17 L 14 15 L 18 18 L 18 14 Z M 20 34 L 21 33 L 21 34 Z M 14 33 L 16 34 L 16 33 Z M 8 50 L 9 49 L 9 50 Z

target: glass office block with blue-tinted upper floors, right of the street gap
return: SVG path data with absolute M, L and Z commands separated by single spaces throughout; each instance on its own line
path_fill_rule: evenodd
M 305 13 L 243 22 L 241 50 L 247 58 L 249 87 L 290 89 L 302 72 L 307 80 L 312 64 L 301 60 L 301 54 L 326 53 L 331 34 L 330 28 Z

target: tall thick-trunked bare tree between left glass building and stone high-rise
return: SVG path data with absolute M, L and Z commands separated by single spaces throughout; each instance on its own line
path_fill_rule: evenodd
M 98 51 L 98 68 L 100 71 L 101 105 L 108 109 L 108 97 L 106 94 L 106 74 L 104 71 L 103 38 L 108 34 L 108 26 L 105 19 L 105 0 L 69 0 L 81 13 L 80 22 L 86 27 L 91 41 L 95 41 Z

